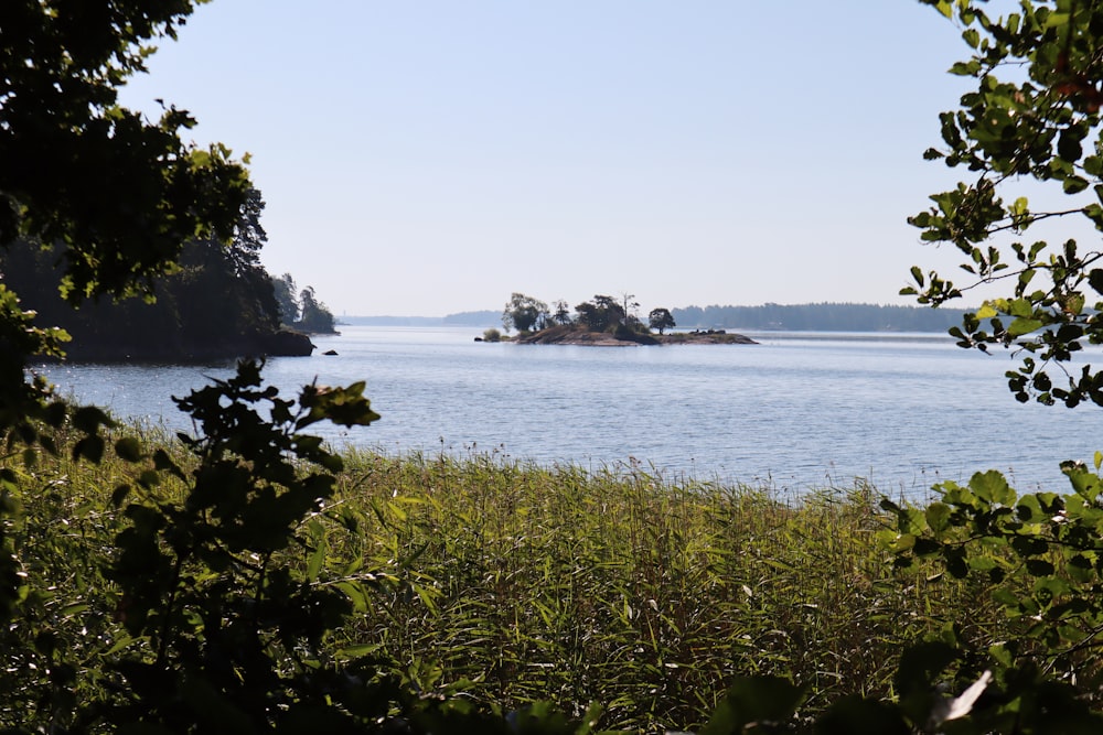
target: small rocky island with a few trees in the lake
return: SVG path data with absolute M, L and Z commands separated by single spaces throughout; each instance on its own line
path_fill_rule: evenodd
M 668 309 L 657 307 L 644 323 L 636 316 L 640 304 L 631 294 L 621 299 L 595 295 L 575 306 L 572 315 L 565 301 L 553 304 L 514 293 L 502 312 L 506 333 L 516 329 L 515 337 L 503 336 L 497 329 L 486 329 L 478 342 L 515 342 L 525 345 L 588 345 L 621 347 L 632 345 L 753 345 L 746 335 L 725 329 L 695 329 L 667 334 L 677 326 Z M 657 332 L 657 334 L 655 334 Z

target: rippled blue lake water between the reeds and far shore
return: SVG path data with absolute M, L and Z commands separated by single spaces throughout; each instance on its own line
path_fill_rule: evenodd
M 576 347 L 475 343 L 469 327 L 345 326 L 308 358 L 275 358 L 282 391 L 367 381 L 383 419 L 326 426 L 335 443 L 389 454 L 492 453 L 540 464 L 625 467 L 672 479 L 922 494 L 989 468 L 1020 490 L 1063 491 L 1062 460 L 1103 448 L 1103 413 L 1020 404 L 1008 353 L 943 335 L 764 334 L 759 345 Z M 322 353 L 334 349 L 336 356 Z M 1103 357 L 1103 356 L 1101 356 Z M 189 429 L 170 396 L 233 366 L 40 368 L 64 391 Z M 315 428 L 312 428 L 315 430 Z

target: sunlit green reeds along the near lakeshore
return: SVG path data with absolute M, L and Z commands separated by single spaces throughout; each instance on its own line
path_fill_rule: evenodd
M 326 645 L 370 652 L 425 693 L 569 714 L 598 702 L 602 727 L 694 728 L 736 674 L 791 675 L 811 688 L 810 711 L 888 695 L 901 645 L 997 617 L 961 583 L 895 573 L 877 540 L 888 519 L 861 485 L 785 501 L 642 468 L 343 458 L 336 495 L 300 529 L 302 553 L 280 563 L 324 566 L 330 584 L 370 573 Z M 22 473 L 17 552 L 32 586 L 52 591 L 29 609 L 86 672 L 128 645 L 126 601 L 100 570 L 128 522 L 111 495 L 137 472 L 63 454 Z M 0 685 L 29 687 L 20 666 L 34 662 Z

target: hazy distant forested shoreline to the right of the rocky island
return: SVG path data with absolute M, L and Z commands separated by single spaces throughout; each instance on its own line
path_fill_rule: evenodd
M 963 310 L 878 304 L 763 304 L 672 309 L 679 328 L 785 329 L 790 332 L 945 332 Z

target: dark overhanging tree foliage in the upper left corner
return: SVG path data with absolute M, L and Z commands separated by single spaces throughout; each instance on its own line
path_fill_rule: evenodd
M 183 142 L 195 120 L 169 107 L 149 122 L 117 104 L 148 43 L 174 37 L 190 0 L 0 8 L 0 246 L 20 236 L 62 248 L 74 302 L 148 290 L 183 242 L 228 238 L 244 169 L 222 145 Z

